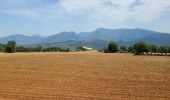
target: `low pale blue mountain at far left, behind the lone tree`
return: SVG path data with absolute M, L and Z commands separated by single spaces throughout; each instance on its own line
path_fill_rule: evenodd
M 0 38 L 0 43 L 7 43 L 9 40 L 15 40 L 18 44 L 35 44 L 40 43 L 44 37 L 39 35 L 26 36 L 22 34 L 15 34 Z

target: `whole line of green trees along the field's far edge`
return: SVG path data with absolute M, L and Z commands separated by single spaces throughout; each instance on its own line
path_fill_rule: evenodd
M 68 48 L 60 47 L 47 47 L 43 48 L 42 46 L 36 47 L 24 47 L 16 46 L 15 41 L 8 41 L 6 45 L 0 44 L 0 52 L 14 53 L 14 52 L 69 52 Z M 85 51 L 82 47 L 77 47 L 76 51 Z M 157 46 L 153 44 L 148 44 L 145 42 L 138 42 L 133 46 L 119 46 L 116 42 L 110 42 L 106 48 L 99 50 L 105 53 L 134 53 L 135 55 L 142 55 L 144 53 L 170 53 L 170 46 Z

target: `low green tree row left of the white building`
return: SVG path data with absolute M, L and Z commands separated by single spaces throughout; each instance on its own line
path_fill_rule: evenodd
M 0 51 L 6 53 L 14 53 L 14 52 L 69 52 L 70 50 L 60 47 L 42 48 L 42 46 L 40 45 L 36 47 L 16 46 L 15 41 L 8 41 L 6 45 L 0 44 Z

